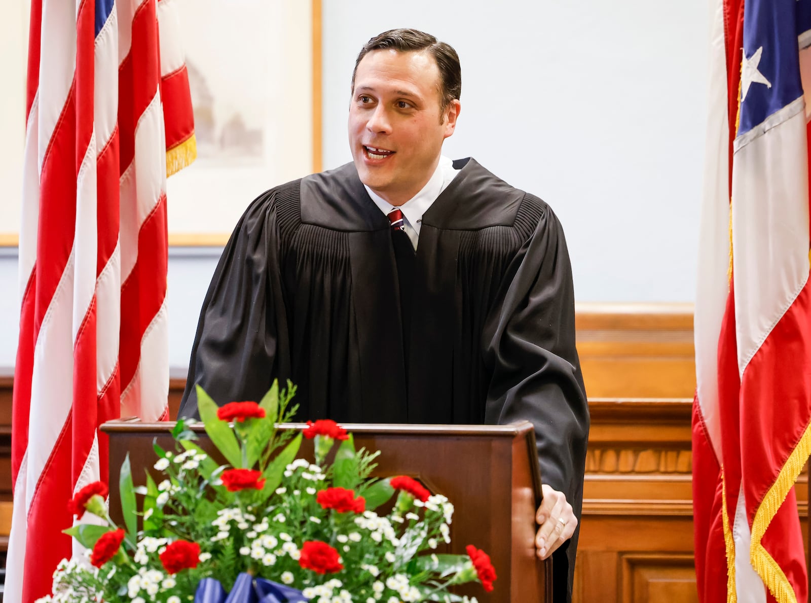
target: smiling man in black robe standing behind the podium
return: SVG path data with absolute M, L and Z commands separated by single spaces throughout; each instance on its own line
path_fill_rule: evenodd
M 352 79 L 354 162 L 276 187 L 238 223 L 200 314 L 195 383 L 217 400 L 298 385 L 298 416 L 535 426 L 536 545 L 570 598 L 588 433 L 569 256 L 554 213 L 472 158 L 441 157 L 456 51 L 372 38 Z M 388 218 L 387 218 L 388 216 Z

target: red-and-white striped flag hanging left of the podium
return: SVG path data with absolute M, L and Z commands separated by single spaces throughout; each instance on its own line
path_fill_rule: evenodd
M 165 183 L 195 157 L 176 3 L 31 3 L 11 603 L 71 556 L 67 501 L 107 476 L 97 427 L 167 416 Z

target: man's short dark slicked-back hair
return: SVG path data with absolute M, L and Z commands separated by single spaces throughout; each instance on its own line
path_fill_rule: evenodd
M 430 33 L 420 32 L 418 29 L 389 29 L 367 41 L 358 54 L 355 68 L 352 71 L 352 90 L 354 91 L 354 76 L 358 72 L 361 59 L 372 50 L 393 49 L 399 52 L 427 50 L 436 61 L 440 69 L 440 98 L 441 110 L 448 107 L 451 101 L 461 96 L 461 66 L 459 55 L 453 46 L 436 41 Z

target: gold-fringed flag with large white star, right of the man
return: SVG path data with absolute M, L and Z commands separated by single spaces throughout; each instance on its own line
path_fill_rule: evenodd
M 700 599 L 807 601 L 794 484 L 811 451 L 809 0 L 714 15 L 696 300 Z

